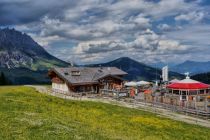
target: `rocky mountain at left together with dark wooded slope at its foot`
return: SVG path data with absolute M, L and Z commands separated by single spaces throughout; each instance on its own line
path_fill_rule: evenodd
M 10 84 L 49 83 L 49 68 L 68 65 L 50 55 L 27 34 L 0 29 L 0 73 L 3 72 Z

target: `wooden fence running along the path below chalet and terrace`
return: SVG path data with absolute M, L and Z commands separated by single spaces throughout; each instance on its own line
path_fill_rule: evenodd
M 160 109 L 167 109 L 173 112 L 178 112 L 178 113 L 182 113 L 185 115 L 192 115 L 198 118 L 202 118 L 202 119 L 208 119 L 210 120 L 210 112 L 207 111 L 201 111 L 198 109 L 191 109 L 191 108 L 187 108 L 187 107 L 181 107 L 181 106 L 177 106 L 177 105 L 172 105 L 172 104 L 167 104 L 167 103 L 161 103 L 161 102 L 146 102 L 146 100 L 143 99 L 131 99 L 131 98 L 121 98 L 119 96 L 119 94 L 123 91 L 114 91 L 114 90 L 101 90 L 102 95 L 98 95 L 98 94 L 93 94 L 90 92 L 81 92 L 81 93 L 60 93 L 59 91 L 53 91 L 59 94 L 63 94 L 65 96 L 72 96 L 72 97 L 80 97 L 82 98 L 83 95 L 85 95 L 88 98 L 103 98 L 106 96 L 111 97 L 113 100 L 117 100 L 117 101 L 122 101 L 125 102 L 127 104 L 130 105 L 134 105 L 134 106 L 142 106 L 144 105 L 146 106 L 150 106 L 155 108 L 160 108 Z M 110 96 L 110 94 L 114 95 L 117 94 L 116 96 Z

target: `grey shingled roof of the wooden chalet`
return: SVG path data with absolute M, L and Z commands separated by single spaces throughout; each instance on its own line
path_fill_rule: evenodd
M 98 80 L 106 76 L 120 76 L 127 73 L 116 67 L 68 67 L 54 68 L 56 74 L 71 84 L 98 83 Z M 78 72 L 76 75 L 72 72 Z

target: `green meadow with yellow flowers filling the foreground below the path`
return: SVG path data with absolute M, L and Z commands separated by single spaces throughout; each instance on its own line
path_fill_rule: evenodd
M 208 128 L 110 104 L 0 87 L 0 139 L 209 140 Z

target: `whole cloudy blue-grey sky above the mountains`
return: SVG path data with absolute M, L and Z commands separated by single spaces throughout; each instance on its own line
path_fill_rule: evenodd
M 80 64 L 210 60 L 209 0 L 0 0 L 0 26 Z

